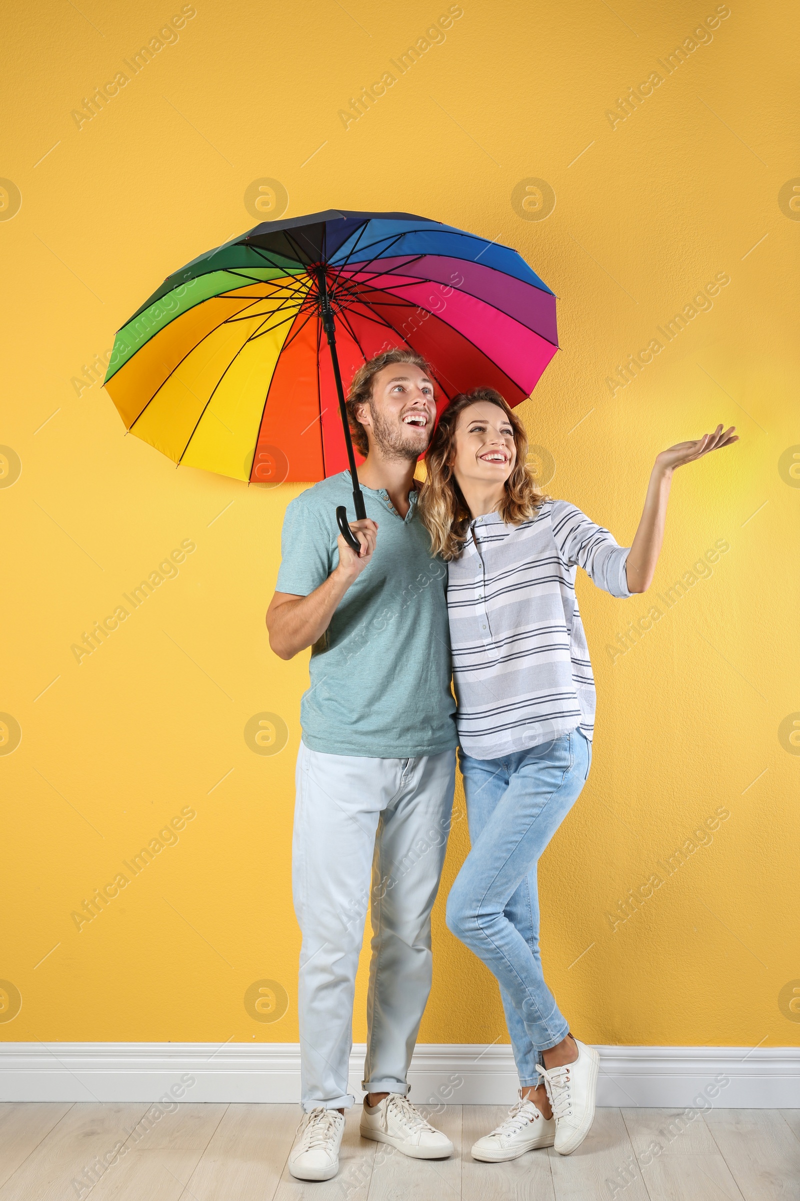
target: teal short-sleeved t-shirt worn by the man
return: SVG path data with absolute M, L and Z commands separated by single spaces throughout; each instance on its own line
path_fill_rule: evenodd
M 431 555 L 415 491 L 405 520 L 385 490 L 362 491 L 367 516 L 378 524 L 375 550 L 312 647 L 311 687 L 300 705 L 302 740 L 329 754 L 439 754 L 458 741 L 450 687 L 447 566 Z M 281 534 L 278 592 L 308 596 L 338 564 L 337 504 L 345 504 L 353 519 L 349 472 L 290 502 Z

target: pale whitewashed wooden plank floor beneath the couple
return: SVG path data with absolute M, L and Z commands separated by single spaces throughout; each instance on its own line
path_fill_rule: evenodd
M 469 1149 L 505 1109 L 426 1109 L 456 1147 L 451 1159 L 426 1163 L 362 1140 L 356 1105 L 339 1175 L 318 1184 L 287 1170 L 299 1106 L 186 1104 L 143 1134 L 137 1124 L 146 1112 L 146 1105 L 1 1104 L 0 1201 L 800 1199 L 800 1110 L 688 1111 L 687 1122 L 685 1111 L 603 1109 L 575 1154 L 535 1151 L 493 1165 L 476 1163 Z M 119 1147 L 124 1153 L 101 1173 L 97 1161 Z

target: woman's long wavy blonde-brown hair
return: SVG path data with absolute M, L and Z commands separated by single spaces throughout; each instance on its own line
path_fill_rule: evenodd
M 453 474 L 456 426 L 464 410 L 480 401 L 487 401 L 503 410 L 513 430 L 517 448 L 513 470 L 505 483 L 505 496 L 498 507 L 503 520 L 510 525 L 529 521 L 540 504 L 548 498 L 536 489 L 528 467 L 525 429 L 500 393 L 494 388 L 474 388 L 473 392 L 453 396 L 439 418 L 425 456 L 428 474 L 419 501 L 420 516 L 431 534 L 431 550 L 447 561 L 461 556 L 471 521 L 469 507 Z

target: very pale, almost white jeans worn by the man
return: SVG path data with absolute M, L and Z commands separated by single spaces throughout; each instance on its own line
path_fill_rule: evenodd
M 431 991 L 431 910 L 450 831 L 456 752 L 323 754 L 300 743 L 291 848 L 300 952 L 302 1107 L 349 1109 L 353 997 L 367 902 L 372 958 L 361 1087 L 408 1093 Z M 372 871 L 372 884 L 371 884 Z

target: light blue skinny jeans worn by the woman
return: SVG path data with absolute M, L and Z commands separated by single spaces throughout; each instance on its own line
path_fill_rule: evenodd
M 500 985 L 523 1087 L 569 1033 L 539 954 L 540 855 L 581 794 L 591 746 L 575 729 L 503 759 L 459 753 L 473 849 L 447 897 L 447 926 Z

